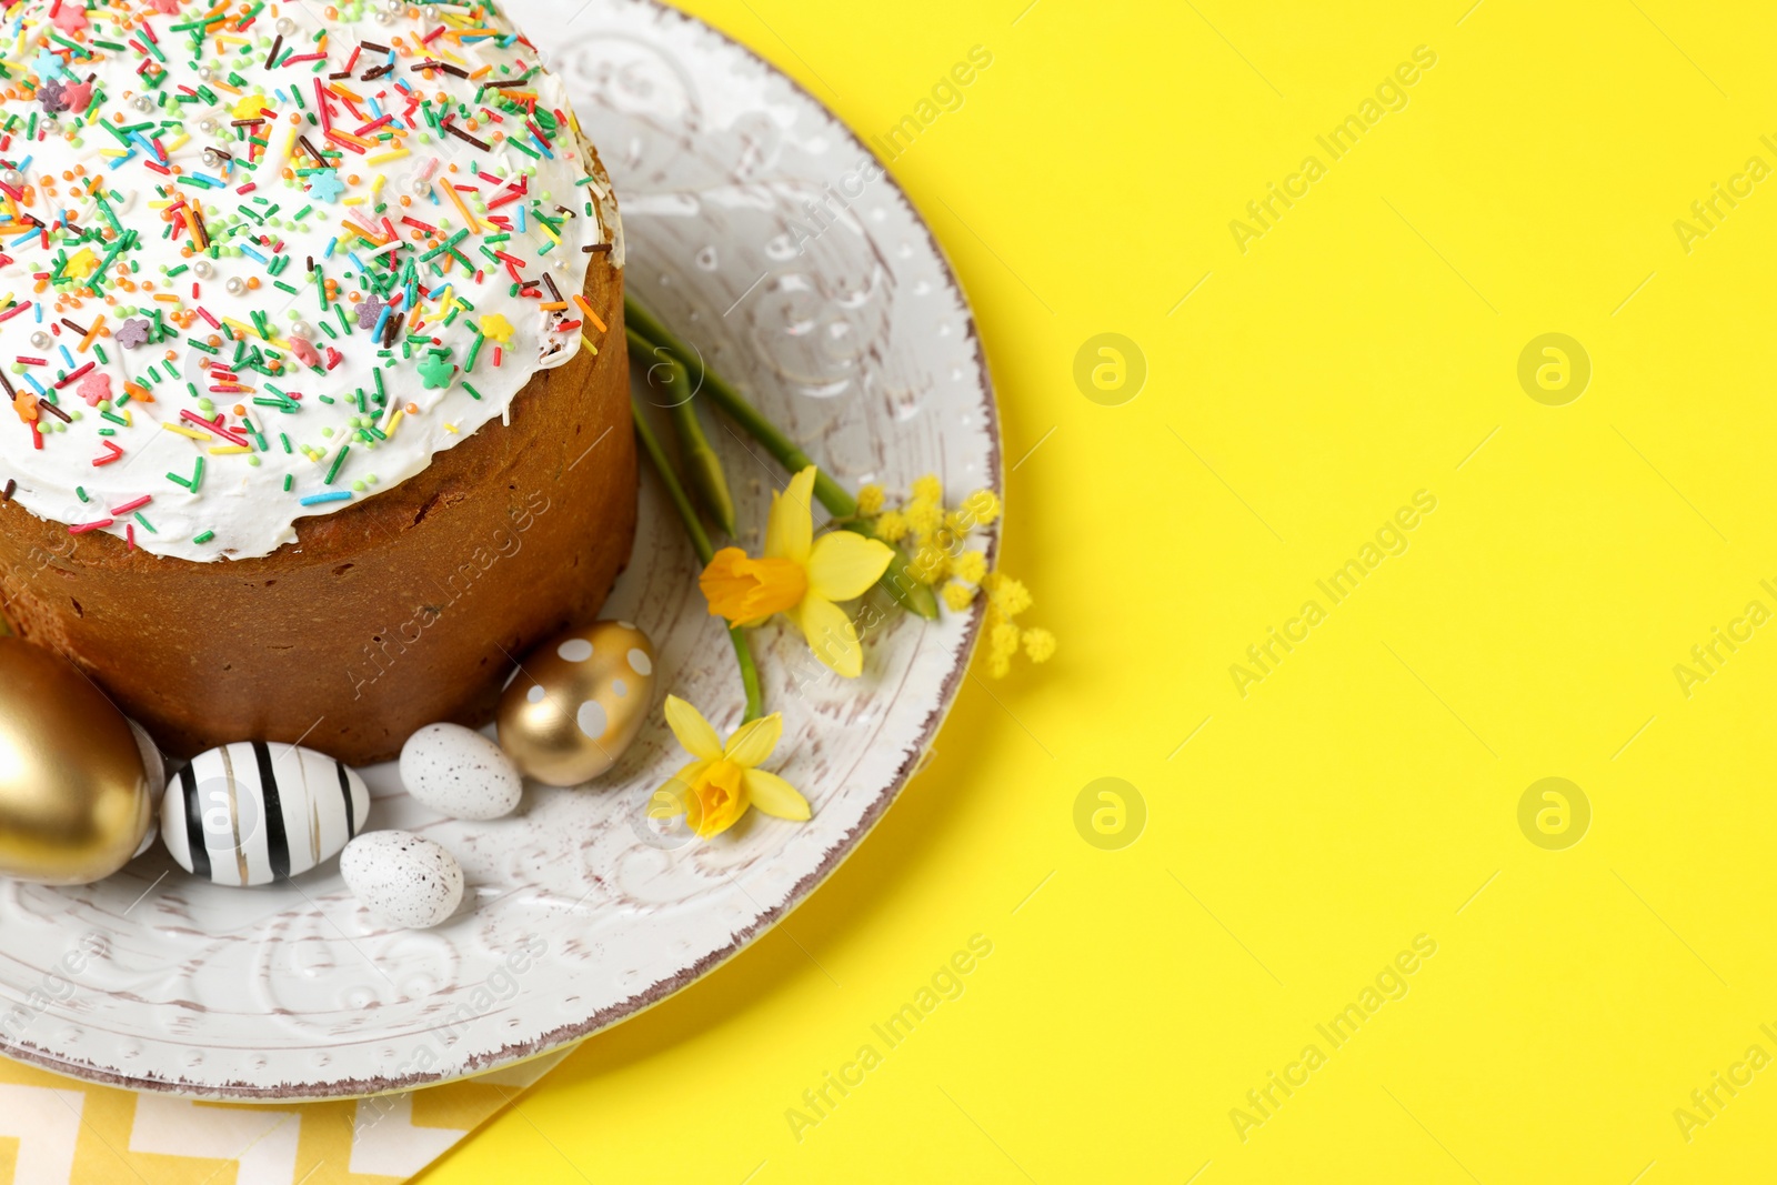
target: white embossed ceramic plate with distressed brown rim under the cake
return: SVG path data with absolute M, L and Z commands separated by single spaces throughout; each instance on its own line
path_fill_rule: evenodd
M 821 103 L 649 0 L 592 0 L 565 27 L 558 0 L 512 9 L 569 80 L 617 183 L 631 291 L 846 483 L 904 489 L 935 471 L 952 496 L 1000 489 L 968 306 L 906 195 L 864 169 L 869 153 Z M 739 521 L 762 526 L 785 474 L 714 435 Z M 992 554 L 995 540 L 983 545 Z M 647 476 L 636 554 L 606 616 L 649 631 L 659 691 L 727 730 L 739 682 L 695 576 Z M 368 771 L 371 828 L 421 831 L 462 860 L 464 908 L 434 931 L 371 922 L 334 863 L 229 890 L 156 847 L 103 885 L 0 885 L 0 1048 L 139 1089 L 313 1100 L 572 1043 L 707 974 L 832 874 L 919 766 L 979 627 L 979 609 L 938 624 L 896 615 L 869 634 L 857 682 L 828 675 L 784 627 L 755 632 L 768 704 L 785 714 L 775 767 L 814 805 L 807 824 L 753 812 L 709 844 L 652 831 L 643 803 L 686 760 L 657 712 L 608 776 L 531 787 L 496 823 L 442 819 L 402 792 L 393 766 Z

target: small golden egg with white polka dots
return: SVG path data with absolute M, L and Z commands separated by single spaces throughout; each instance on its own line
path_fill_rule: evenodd
M 499 748 L 546 785 L 617 764 L 654 704 L 654 643 L 629 622 L 594 622 L 519 663 L 499 698 Z

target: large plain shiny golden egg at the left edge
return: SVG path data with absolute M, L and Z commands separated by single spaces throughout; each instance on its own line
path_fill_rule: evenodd
M 0 876 L 110 876 L 142 847 L 162 785 L 160 755 L 92 680 L 0 638 Z

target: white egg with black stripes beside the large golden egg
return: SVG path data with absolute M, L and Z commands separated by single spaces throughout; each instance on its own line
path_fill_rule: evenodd
M 217 885 L 270 885 L 332 860 L 364 830 L 370 789 L 332 757 L 240 741 L 199 753 L 167 783 L 160 839 Z

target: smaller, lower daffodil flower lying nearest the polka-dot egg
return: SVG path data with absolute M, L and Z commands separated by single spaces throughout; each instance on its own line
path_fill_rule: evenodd
M 702 712 L 668 695 L 666 725 L 697 760 L 654 791 L 650 819 L 686 815 L 697 837 L 709 839 L 734 826 L 748 807 L 796 823 L 809 817 L 809 799 L 796 787 L 757 767 L 784 736 L 782 712 L 741 725 L 723 744 Z

